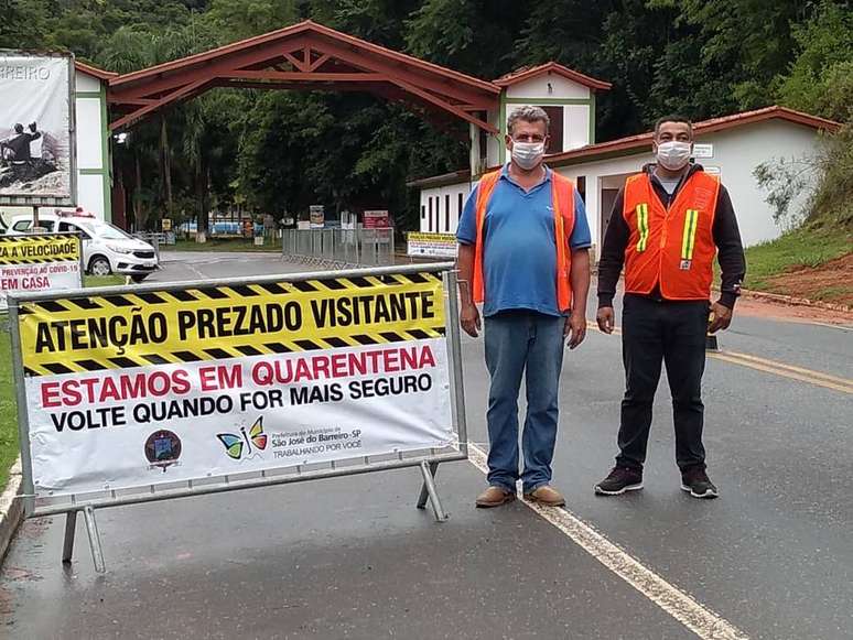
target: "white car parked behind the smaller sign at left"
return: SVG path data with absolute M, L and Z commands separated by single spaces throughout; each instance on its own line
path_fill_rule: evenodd
M 117 273 L 130 275 L 134 282 L 142 282 L 159 268 L 156 251 L 151 245 L 91 214 L 41 214 L 39 226 L 53 232 L 79 232 L 83 238 L 84 268 L 93 275 Z M 6 234 L 23 236 L 31 232 L 32 227 L 32 215 L 14 216 Z

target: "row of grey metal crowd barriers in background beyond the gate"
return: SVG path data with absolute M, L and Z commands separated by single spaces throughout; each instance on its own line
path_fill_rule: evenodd
M 395 263 L 393 229 L 284 229 L 285 260 L 345 269 Z

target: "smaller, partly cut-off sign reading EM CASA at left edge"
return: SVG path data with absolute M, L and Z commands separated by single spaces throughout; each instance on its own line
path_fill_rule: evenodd
M 76 234 L 0 236 L 0 311 L 18 292 L 83 286 L 83 251 Z

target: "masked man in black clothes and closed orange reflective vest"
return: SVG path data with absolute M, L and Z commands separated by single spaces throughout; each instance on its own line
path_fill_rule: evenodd
M 598 495 L 643 488 L 651 406 L 663 362 L 672 393 L 681 488 L 695 498 L 717 496 L 705 471 L 702 445 L 705 335 L 728 328 L 746 267 L 728 192 L 690 162 L 692 144 L 689 120 L 673 116 L 658 121 L 652 139 L 657 163 L 628 178 L 605 232 L 596 319 L 602 332 L 613 332 L 613 299 L 625 265 L 626 391 L 619 455 L 607 478 L 595 486 Z M 714 253 L 722 286 L 711 304 Z

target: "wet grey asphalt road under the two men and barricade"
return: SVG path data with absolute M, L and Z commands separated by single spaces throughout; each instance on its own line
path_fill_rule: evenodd
M 164 259 L 154 280 L 299 269 L 264 254 Z M 738 316 L 721 343 L 849 379 L 852 337 Z M 465 338 L 463 351 L 469 435 L 485 447 L 482 339 Z M 596 497 L 615 454 L 623 371 L 618 337 L 591 332 L 565 358 L 554 481 L 584 527 L 722 619 L 703 637 L 851 638 L 853 394 L 762 367 L 708 362 L 705 445 L 719 500 L 679 489 L 666 382 L 645 490 Z M 629 585 L 522 503 L 473 509 L 484 486 L 473 465 L 439 470 L 452 513 L 444 524 L 412 508 L 419 480 L 389 471 L 99 511 L 106 576 L 93 570 L 82 522 L 63 570 L 63 518 L 28 521 L 0 575 L 0 634 L 695 637 L 654 588 Z

